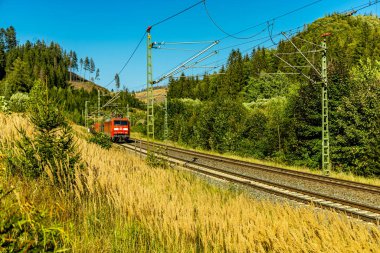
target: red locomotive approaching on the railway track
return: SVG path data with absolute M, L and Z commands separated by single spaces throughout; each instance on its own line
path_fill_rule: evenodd
M 113 142 L 126 142 L 129 139 L 130 123 L 128 118 L 111 118 L 104 122 L 96 122 L 92 130 L 105 133 Z

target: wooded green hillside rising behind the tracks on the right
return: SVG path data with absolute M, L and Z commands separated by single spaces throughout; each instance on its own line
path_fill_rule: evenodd
M 380 175 L 380 20 L 333 14 L 287 35 L 321 69 L 326 38 L 331 161 L 336 170 Z M 192 146 L 318 168 L 321 79 L 285 39 L 275 49 L 233 50 L 223 75 L 170 80 L 172 138 Z M 297 71 L 291 65 L 307 66 Z M 266 74 L 266 73 L 277 73 Z M 185 99 L 186 98 L 186 99 Z M 193 99 L 193 100 L 192 100 Z M 200 101 L 196 101 L 200 100 Z M 174 115 L 173 115 L 174 114 Z M 185 116 L 183 116 L 185 115 Z M 205 126 L 206 124 L 206 126 Z M 180 127 L 178 126 L 180 125 Z

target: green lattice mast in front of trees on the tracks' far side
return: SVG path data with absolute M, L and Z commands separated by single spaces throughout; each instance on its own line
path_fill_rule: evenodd
M 329 108 L 327 97 L 327 47 L 322 42 L 322 171 L 330 174 Z

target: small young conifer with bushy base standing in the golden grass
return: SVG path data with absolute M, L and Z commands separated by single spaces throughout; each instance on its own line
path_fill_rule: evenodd
M 30 96 L 29 120 L 36 129 L 36 135 L 29 137 L 25 130 L 19 129 L 21 139 L 16 141 L 15 149 L 10 149 L 8 167 L 13 174 L 37 178 L 50 168 L 55 183 L 60 178 L 68 178 L 71 183 L 74 169 L 80 161 L 75 150 L 74 137 L 54 101 L 49 100 L 47 90 L 36 82 Z M 67 185 L 61 185 L 67 186 Z

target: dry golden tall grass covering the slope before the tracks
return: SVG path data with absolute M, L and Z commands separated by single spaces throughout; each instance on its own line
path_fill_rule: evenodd
M 0 114 L 0 123 L 2 143 L 16 138 L 14 126 L 27 125 L 16 115 Z M 72 193 L 48 179 L 8 177 L 4 170 L 0 177 L 3 187 L 16 187 L 9 198 L 19 196 L 47 210 L 51 223 L 65 224 L 73 252 L 380 252 L 375 226 L 311 207 L 256 201 L 185 171 L 150 168 L 124 150 L 102 150 L 81 137 L 77 145 L 87 168 Z

